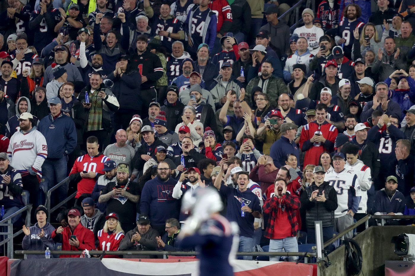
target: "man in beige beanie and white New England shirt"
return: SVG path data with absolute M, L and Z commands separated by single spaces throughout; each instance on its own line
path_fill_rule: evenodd
M 312 24 L 314 12 L 311 9 L 304 9 L 301 17 L 303 18 L 304 26 L 296 28 L 293 34 L 305 37 L 308 41 L 308 50 L 315 55 L 320 48 L 320 37 L 324 35 L 324 31 Z

